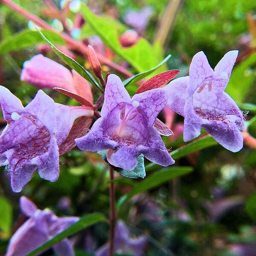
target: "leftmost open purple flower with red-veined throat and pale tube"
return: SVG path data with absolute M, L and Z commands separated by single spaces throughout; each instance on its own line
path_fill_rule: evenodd
M 8 165 L 12 190 L 20 192 L 36 169 L 41 178 L 57 180 L 58 147 L 66 142 L 74 120 L 79 116 L 92 118 L 93 111 L 54 103 L 42 90 L 24 108 L 3 86 L 0 105 L 8 122 L 0 135 L 0 166 Z

